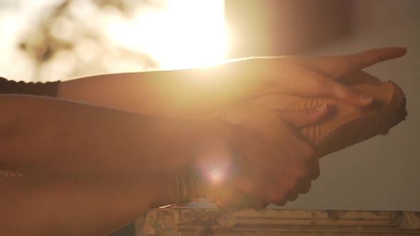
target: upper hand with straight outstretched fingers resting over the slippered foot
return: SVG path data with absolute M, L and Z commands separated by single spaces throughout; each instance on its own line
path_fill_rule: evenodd
M 405 53 L 405 48 L 379 48 L 352 55 L 328 57 L 251 58 L 226 63 L 221 66 L 219 73 L 209 74 L 229 81 L 225 90 L 231 93 L 225 96 L 230 96 L 231 102 L 283 94 L 336 97 L 364 106 L 372 102 L 372 97 L 362 95 L 336 79 L 375 63 L 399 58 Z M 219 94 L 223 95 L 223 92 Z

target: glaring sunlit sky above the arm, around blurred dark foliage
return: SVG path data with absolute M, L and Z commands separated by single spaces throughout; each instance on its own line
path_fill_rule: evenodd
M 14 80 L 65 80 L 84 74 L 133 70 L 191 68 L 211 65 L 224 58 L 226 28 L 223 0 L 166 0 L 164 7 L 142 5 L 125 17 L 115 9 L 99 9 L 90 1 L 73 0 L 69 15 L 53 24 L 52 34 L 78 41 L 36 68 L 33 58 L 17 48 L 23 36 L 35 33 L 36 23 L 61 0 L 1 0 L 0 76 Z M 88 31 L 100 43 L 77 40 Z M 146 54 L 158 63 L 149 65 L 125 51 Z

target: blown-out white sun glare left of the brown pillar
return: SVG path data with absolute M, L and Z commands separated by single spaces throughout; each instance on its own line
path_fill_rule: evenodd
M 132 21 L 107 23 L 117 44 L 146 53 L 161 69 L 214 65 L 226 54 L 223 0 L 167 0 L 164 9 L 140 11 Z

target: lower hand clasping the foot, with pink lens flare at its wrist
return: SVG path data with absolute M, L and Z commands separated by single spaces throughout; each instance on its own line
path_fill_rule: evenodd
M 219 207 L 241 206 L 238 197 L 245 193 L 260 203 L 284 205 L 299 193 L 308 192 L 310 181 L 320 174 L 318 159 L 293 127 L 316 123 L 325 114 L 326 104 L 304 110 L 229 110 L 225 119 L 237 125 L 233 134 L 237 150 L 229 153 L 219 149 L 199 161 L 209 181 L 229 186 L 211 200 Z M 229 154 L 233 155 L 230 159 L 226 158 Z

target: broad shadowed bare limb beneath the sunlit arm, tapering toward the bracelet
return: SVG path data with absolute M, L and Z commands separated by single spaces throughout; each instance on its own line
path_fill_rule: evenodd
M 174 176 L 217 126 L 43 97 L 0 106 L 0 167 L 23 173 L 0 180 L 5 235 L 103 235 L 174 203 Z

